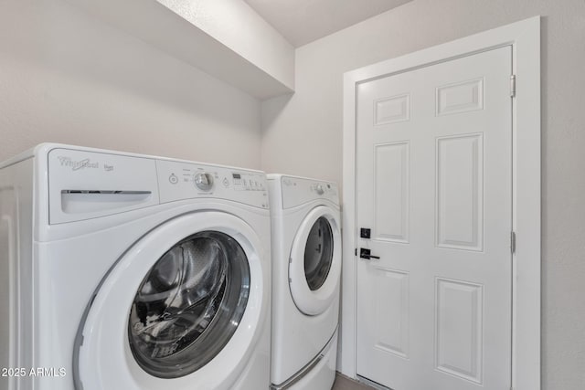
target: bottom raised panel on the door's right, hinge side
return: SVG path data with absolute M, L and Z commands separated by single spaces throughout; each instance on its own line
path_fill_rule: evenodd
M 482 383 L 483 287 L 436 279 L 435 364 L 444 373 Z

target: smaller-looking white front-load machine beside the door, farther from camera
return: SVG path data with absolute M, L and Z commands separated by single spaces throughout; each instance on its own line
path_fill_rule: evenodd
M 275 390 L 325 390 L 335 381 L 341 222 L 337 185 L 268 175 L 272 222 Z

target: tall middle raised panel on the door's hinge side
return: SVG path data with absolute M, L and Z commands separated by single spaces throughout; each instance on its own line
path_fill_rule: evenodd
M 438 247 L 483 250 L 483 134 L 437 139 Z

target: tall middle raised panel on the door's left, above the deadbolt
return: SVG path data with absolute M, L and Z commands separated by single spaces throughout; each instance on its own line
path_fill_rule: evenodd
M 409 241 L 409 149 L 409 142 L 374 147 L 374 235 L 378 239 Z

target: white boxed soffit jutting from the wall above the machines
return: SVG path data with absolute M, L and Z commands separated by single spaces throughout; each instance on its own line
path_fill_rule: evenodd
M 258 45 L 267 43 L 267 47 L 261 47 L 266 59 L 263 60 L 250 55 L 250 50 L 240 54 L 246 50 L 236 51 L 234 39 L 229 41 L 226 35 L 219 37 L 219 34 L 214 34 L 221 26 L 213 20 L 208 32 L 202 28 L 208 18 L 202 18 L 204 23 L 197 26 L 197 20 L 187 18 L 182 12 L 186 1 L 76 0 L 71 3 L 260 100 L 294 91 L 294 48 L 276 30 L 266 42 L 258 42 Z M 213 5 L 210 3 L 209 6 Z M 271 28 L 260 16 L 251 15 L 251 8 L 242 8 L 248 5 L 242 2 L 238 6 L 236 11 L 243 11 L 261 25 L 256 31 L 258 37 L 261 37 L 259 31 Z M 218 9 L 213 9 L 213 12 L 218 12 Z M 237 37 L 238 31 L 228 32 Z M 262 36 L 266 37 L 266 34 Z M 253 47 L 250 42 L 247 44 L 247 48 Z

